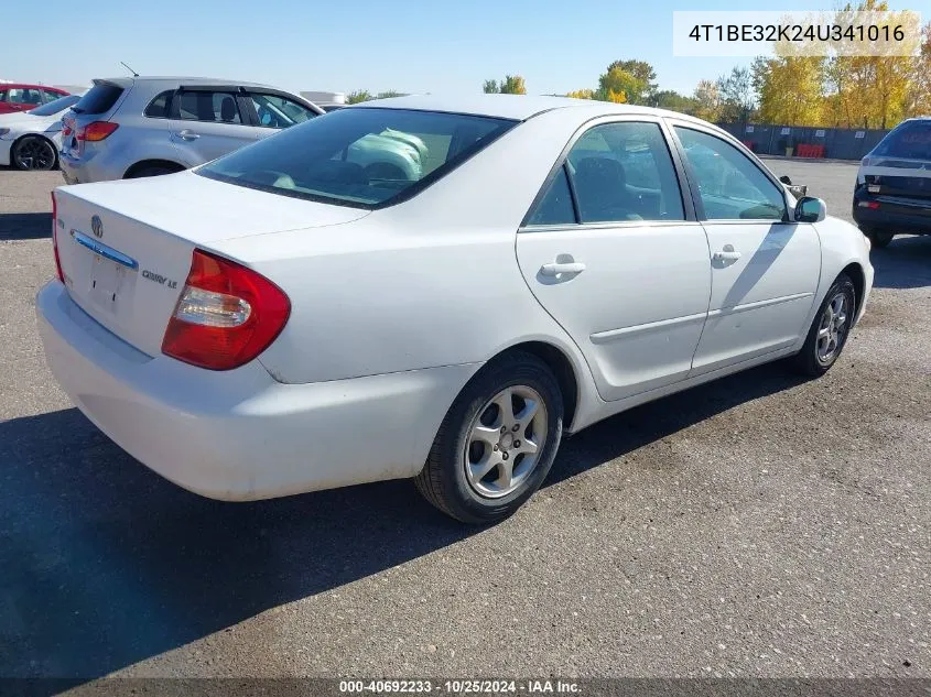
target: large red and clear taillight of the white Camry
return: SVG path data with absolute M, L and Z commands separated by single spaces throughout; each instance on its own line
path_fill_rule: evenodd
M 268 348 L 290 314 L 284 291 L 263 275 L 195 249 L 162 352 L 209 370 L 238 368 Z

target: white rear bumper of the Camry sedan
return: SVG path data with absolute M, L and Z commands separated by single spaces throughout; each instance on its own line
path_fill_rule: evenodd
M 123 342 L 52 281 L 36 297 L 46 360 L 120 447 L 202 495 L 264 499 L 414 476 L 477 364 L 282 384 L 252 361 L 213 372 Z

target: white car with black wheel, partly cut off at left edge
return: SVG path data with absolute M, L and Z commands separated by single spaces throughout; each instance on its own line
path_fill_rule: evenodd
M 80 95 L 0 116 L 0 165 L 18 170 L 54 170 L 62 148 L 62 116 Z

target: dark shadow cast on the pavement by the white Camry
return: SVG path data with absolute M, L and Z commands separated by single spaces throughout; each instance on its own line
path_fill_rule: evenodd
M 764 367 L 615 416 L 565 442 L 546 486 L 798 382 Z M 409 481 L 204 499 L 74 409 L 0 423 L 0 676 L 89 680 L 481 533 Z

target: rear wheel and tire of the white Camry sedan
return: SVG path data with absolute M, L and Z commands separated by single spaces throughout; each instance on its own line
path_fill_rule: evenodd
M 562 394 L 549 367 L 532 353 L 505 355 L 481 368 L 450 407 L 416 488 L 464 523 L 501 521 L 543 483 L 562 425 Z

